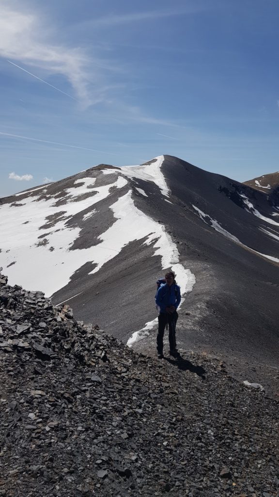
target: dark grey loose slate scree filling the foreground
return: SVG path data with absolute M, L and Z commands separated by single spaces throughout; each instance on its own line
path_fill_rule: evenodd
M 278 403 L 0 275 L 0 496 L 278 497 Z

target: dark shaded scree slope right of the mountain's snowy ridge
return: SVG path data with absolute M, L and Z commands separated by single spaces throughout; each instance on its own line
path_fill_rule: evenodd
M 278 264 L 216 232 L 209 217 L 201 219 L 193 208 L 199 207 L 247 247 L 278 257 L 278 241 L 262 231 L 269 230 L 268 223 L 241 205 L 242 193 L 271 219 L 274 209 L 266 195 L 172 157 L 165 156 L 162 170 L 172 191 L 167 222 L 174 241 L 180 243 L 182 262 L 187 260 L 197 279 L 183 306 L 191 314 L 182 312 L 178 325 L 181 346 L 219 351 L 236 363 L 250 361 L 248 368 L 259 363 L 276 366 Z M 257 369 L 258 381 L 261 374 Z M 269 370 L 268 382 L 270 374 Z

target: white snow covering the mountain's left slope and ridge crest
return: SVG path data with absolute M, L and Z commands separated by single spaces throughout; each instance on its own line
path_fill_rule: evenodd
M 163 157 L 160 157 L 151 165 L 135 166 L 134 175 L 132 167 L 129 167 L 129 173 L 126 175 L 128 177 L 141 177 L 141 179 L 144 176 L 145 180 L 154 181 L 162 193 L 167 195 L 167 186 L 160 173 L 162 162 Z M 179 263 L 178 249 L 171 237 L 165 232 L 164 226 L 136 208 L 132 199 L 132 190 L 119 197 L 110 206 L 116 221 L 98 237 L 100 243 L 97 246 L 70 250 L 81 230 L 79 227 L 70 228 L 67 226 L 71 217 L 109 197 L 112 194 L 112 188 L 121 189 L 128 183 L 127 179 L 123 177 L 123 171 L 120 173 L 118 170 L 104 169 L 102 172 L 104 174 L 117 172 L 118 178 L 112 184 L 99 187 L 94 187 L 95 178 L 77 179 L 74 186 L 66 190 L 67 197 L 64 205 L 56 206 L 57 200 L 54 197 L 46 199 L 36 196 L 27 197 L 24 199 L 23 205 L 18 207 L 11 204 L 4 204 L 0 207 L 2 220 L 0 222 L 0 236 L 2 234 L 1 265 L 7 266 L 11 262 L 15 262 L 6 270 L 9 282 L 21 284 L 30 290 L 40 289 L 47 296 L 51 296 L 66 286 L 70 282 L 72 274 L 86 262 L 97 264 L 89 274 L 96 273 L 130 242 L 145 239 L 143 245 L 152 244 L 155 249 L 154 255 L 161 257 L 162 269 L 171 267 L 177 274 L 177 281 L 181 286 L 183 297 L 187 291 L 192 290 L 195 276 Z M 44 187 L 38 189 L 41 188 Z M 146 196 L 140 188 L 138 191 Z M 93 195 L 78 200 L 80 196 L 88 192 L 92 192 Z M 83 221 L 94 216 L 96 212 L 97 209 L 91 209 L 84 214 Z M 59 213 L 61 214 L 59 215 Z M 56 223 L 51 226 L 48 218 L 54 215 L 57 216 Z M 48 223 L 50 228 L 40 229 Z M 39 239 L 40 235 L 45 236 Z M 43 242 L 44 239 L 46 242 Z M 182 302 L 183 300 L 182 298 Z M 154 325 L 155 321 L 151 323 Z M 147 325 L 145 325 L 144 330 L 146 327 L 148 328 Z M 139 338 L 140 331 L 136 334 Z M 134 336 L 133 341 L 138 338 Z

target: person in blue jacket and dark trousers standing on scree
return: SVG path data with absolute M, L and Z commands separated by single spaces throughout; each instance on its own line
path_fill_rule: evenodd
M 178 319 L 177 308 L 181 301 L 180 287 L 176 284 L 172 271 L 165 274 L 165 284 L 161 284 L 156 293 L 156 304 L 160 308 L 158 316 L 157 353 L 158 359 L 163 355 L 163 337 L 165 327 L 169 327 L 169 353 L 178 356 L 175 340 L 175 327 Z

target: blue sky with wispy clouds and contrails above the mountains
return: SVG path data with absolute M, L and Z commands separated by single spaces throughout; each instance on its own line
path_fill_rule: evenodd
M 276 0 L 0 0 L 0 196 L 162 154 L 279 170 L 278 21 Z

